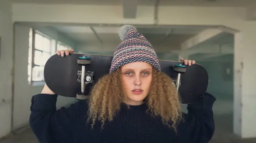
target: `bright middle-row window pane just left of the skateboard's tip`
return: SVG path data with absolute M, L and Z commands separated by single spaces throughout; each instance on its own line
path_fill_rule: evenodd
M 50 56 L 50 53 L 35 50 L 34 63 L 38 66 L 44 66 Z

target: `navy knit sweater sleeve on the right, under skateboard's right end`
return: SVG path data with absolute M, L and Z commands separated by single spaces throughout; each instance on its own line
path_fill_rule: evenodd
M 180 122 L 180 137 L 186 143 L 208 143 L 215 131 L 212 106 L 216 98 L 206 93 L 199 101 L 187 105 Z

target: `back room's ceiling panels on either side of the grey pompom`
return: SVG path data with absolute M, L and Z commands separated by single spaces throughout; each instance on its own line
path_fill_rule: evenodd
M 118 36 L 120 27 L 86 27 L 66 25 L 54 25 L 52 27 L 79 43 L 120 42 L 120 38 Z M 205 29 L 191 27 L 166 28 L 160 26 L 136 28 L 139 33 L 142 33 L 151 43 L 174 43 L 175 45 L 180 45 L 182 42 Z

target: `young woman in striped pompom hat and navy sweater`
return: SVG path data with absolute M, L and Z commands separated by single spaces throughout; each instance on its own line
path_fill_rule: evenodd
M 131 25 L 119 32 L 110 73 L 88 101 L 56 110 L 57 95 L 47 85 L 32 97 L 30 127 L 41 143 L 207 143 L 215 125 L 215 97 L 202 95 L 181 111 L 172 79 L 161 72 L 157 55 Z M 69 55 L 66 51 L 66 55 Z M 64 51 L 57 51 L 64 56 Z M 185 60 L 191 65 L 195 61 Z

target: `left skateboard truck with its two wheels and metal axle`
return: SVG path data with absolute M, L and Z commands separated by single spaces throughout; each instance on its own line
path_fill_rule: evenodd
M 93 82 L 94 72 L 86 72 L 85 66 L 91 64 L 89 57 L 78 57 L 77 63 L 82 66 L 82 71 L 78 71 L 77 80 L 81 82 L 81 92 L 76 94 L 78 100 L 86 100 L 88 97 L 85 95 L 85 85 Z

